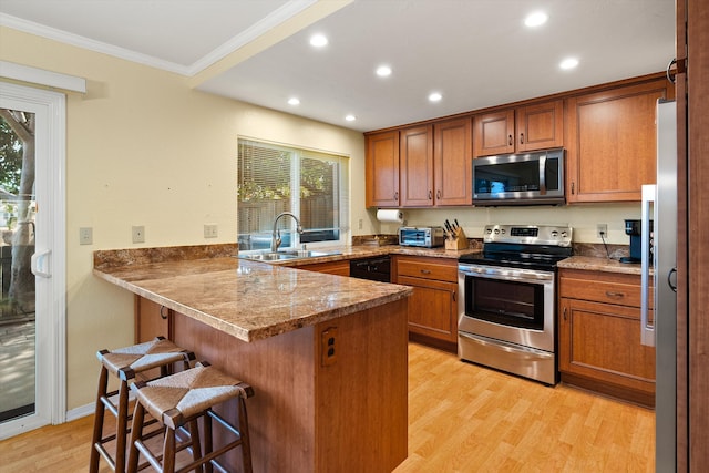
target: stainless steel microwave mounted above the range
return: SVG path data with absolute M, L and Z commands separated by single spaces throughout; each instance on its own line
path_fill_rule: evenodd
M 473 205 L 565 202 L 564 148 L 473 160 Z

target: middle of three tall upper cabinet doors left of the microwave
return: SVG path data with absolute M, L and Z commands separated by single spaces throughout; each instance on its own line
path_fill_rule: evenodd
M 433 205 L 433 128 L 431 125 L 401 131 L 401 206 Z

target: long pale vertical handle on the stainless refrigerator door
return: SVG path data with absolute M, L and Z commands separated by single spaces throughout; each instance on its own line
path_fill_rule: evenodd
M 655 347 L 655 317 L 650 317 L 649 305 L 650 268 L 655 266 L 655 261 L 650 261 L 650 256 L 655 259 L 655 251 L 650 253 L 650 206 L 655 203 L 655 185 L 646 184 L 643 186 L 643 209 L 640 214 L 640 235 L 643 235 L 640 246 L 640 343 L 648 347 Z

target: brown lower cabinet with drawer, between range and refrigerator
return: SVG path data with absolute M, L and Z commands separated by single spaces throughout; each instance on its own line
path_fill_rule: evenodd
M 655 348 L 640 343 L 639 276 L 561 269 L 558 318 L 562 381 L 655 405 Z

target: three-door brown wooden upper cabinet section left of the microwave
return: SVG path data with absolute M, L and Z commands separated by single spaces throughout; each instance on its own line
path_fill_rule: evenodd
M 472 202 L 472 121 L 455 119 L 367 135 L 367 206 Z

